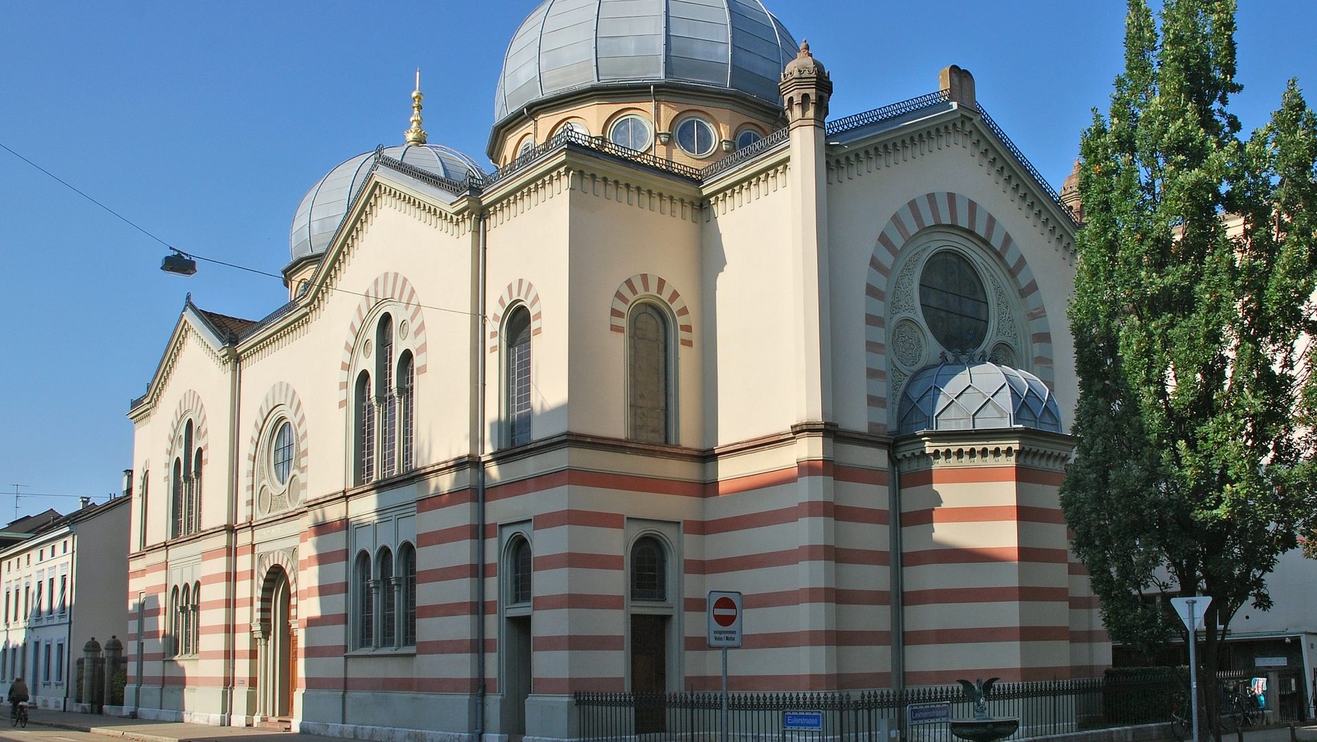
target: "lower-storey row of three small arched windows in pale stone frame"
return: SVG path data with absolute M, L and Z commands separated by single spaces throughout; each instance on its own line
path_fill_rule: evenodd
M 357 649 L 416 646 L 416 547 L 404 542 L 398 563 L 387 546 L 365 550 L 353 566 Z

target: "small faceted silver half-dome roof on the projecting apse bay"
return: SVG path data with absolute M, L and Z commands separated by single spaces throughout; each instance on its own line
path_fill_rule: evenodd
M 921 368 L 897 408 L 898 435 L 1015 426 L 1060 433 L 1056 399 L 1038 376 L 986 360 Z

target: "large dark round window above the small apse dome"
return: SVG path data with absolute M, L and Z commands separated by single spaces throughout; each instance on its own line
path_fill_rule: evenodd
M 928 332 L 950 351 L 973 351 L 988 337 L 988 293 L 963 255 L 943 250 L 919 275 L 919 308 Z

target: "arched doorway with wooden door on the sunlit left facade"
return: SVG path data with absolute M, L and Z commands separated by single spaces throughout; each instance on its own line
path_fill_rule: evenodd
M 267 718 L 292 716 L 292 691 L 296 688 L 298 646 L 292 630 L 292 585 L 283 567 L 275 564 L 266 572 L 261 589 L 261 631 L 258 634 L 259 713 Z

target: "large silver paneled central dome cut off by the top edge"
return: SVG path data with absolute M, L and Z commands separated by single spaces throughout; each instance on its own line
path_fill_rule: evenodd
M 597 83 L 673 80 L 777 104 L 795 53 L 760 0 L 544 0 L 507 47 L 494 120 Z

